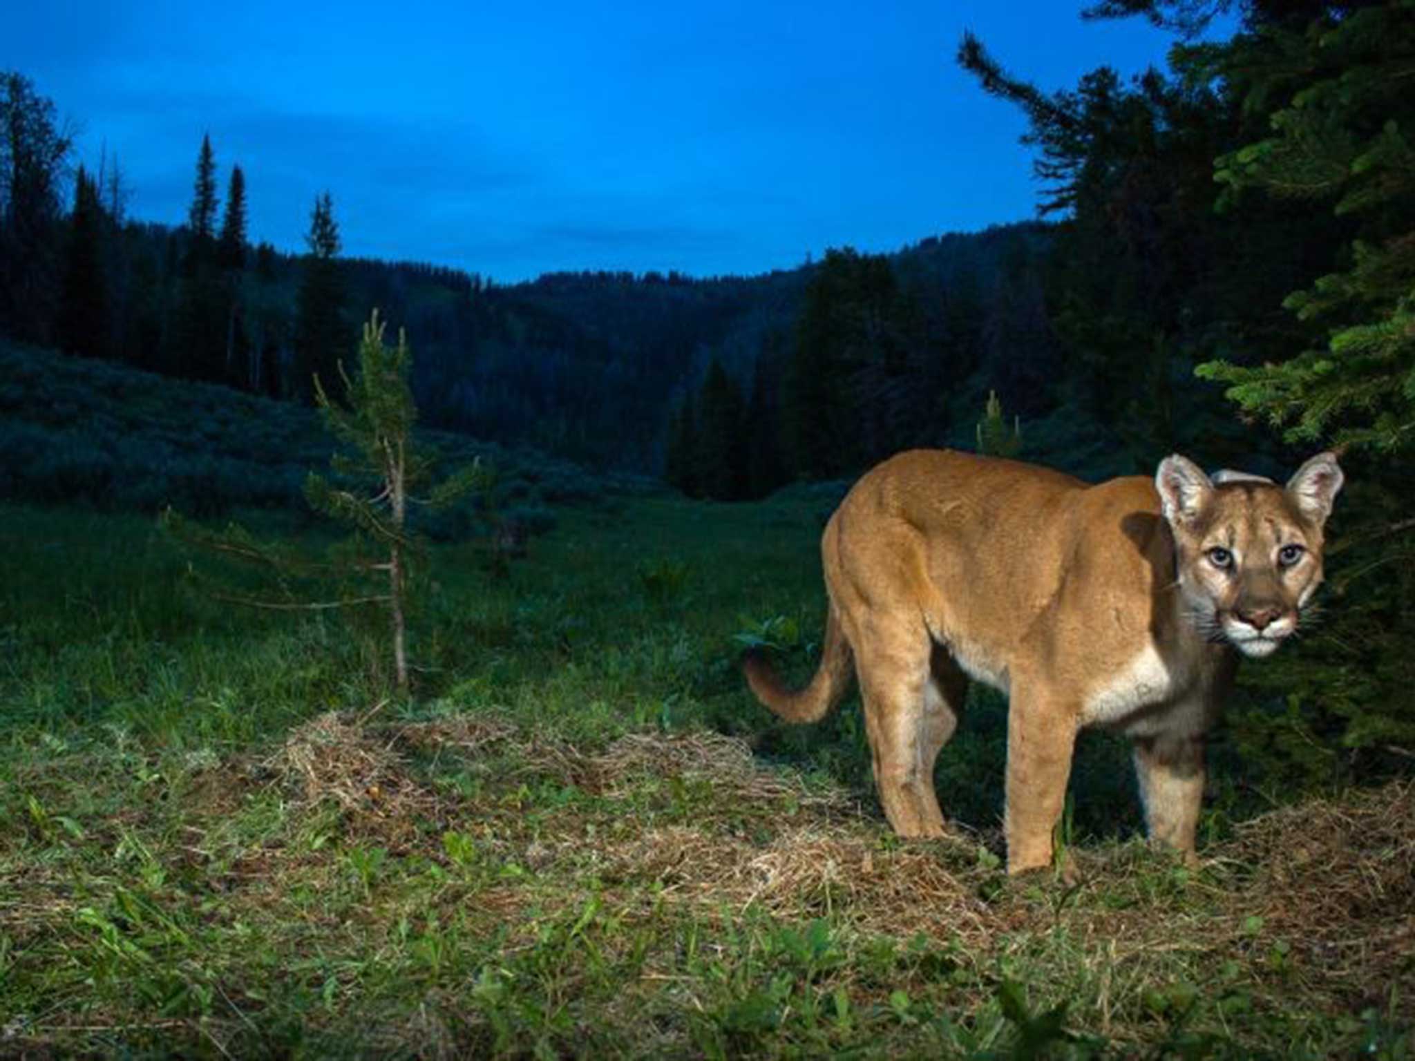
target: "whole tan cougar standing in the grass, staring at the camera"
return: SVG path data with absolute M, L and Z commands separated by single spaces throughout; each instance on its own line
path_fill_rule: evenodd
M 792 693 L 751 656 L 747 680 L 782 717 L 815 721 L 853 659 L 880 802 L 911 837 L 944 832 L 934 761 L 968 678 L 1007 692 L 1010 873 L 1051 862 L 1077 730 L 1115 727 L 1135 740 L 1150 836 L 1193 857 L 1232 648 L 1268 655 L 1296 630 L 1341 487 L 1332 454 L 1286 487 L 1215 478 L 1179 456 L 1153 481 L 1098 485 L 965 453 L 893 457 L 826 523 L 815 678 Z

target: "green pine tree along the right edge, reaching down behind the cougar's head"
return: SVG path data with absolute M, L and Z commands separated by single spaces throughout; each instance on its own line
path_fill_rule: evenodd
M 1142 13 L 1182 31 L 1218 8 L 1220 0 L 1098 4 L 1099 14 Z M 1307 451 L 1319 440 L 1348 448 L 1353 485 L 1327 547 L 1330 615 L 1290 669 L 1264 672 L 1282 713 L 1230 720 L 1244 754 L 1305 765 L 1322 784 L 1339 764 L 1363 778 L 1391 757 L 1408 765 L 1415 748 L 1411 13 L 1409 0 L 1252 0 L 1232 40 L 1173 52 L 1190 81 L 1221 86 L 1237 116 L 1241 136 L 1213 164 L 1230 243 L 1258 248 L 1249 272 L 1269 283 L 1309 263 L 1276 289 L 1289 293 L 1290 315 L 1278 314 L 1292 340 L 1285 347 L 1264 344 L 1274 328 L 1262 314 L 1276 300 L 1255 294 L 1238 270 L 1217 277 L 1247 327 L 1197 371 L 1228 385 L 1249 424 L 1265 420 Z M 1276 239 L 1252 238 L 1264 216 L 1288 221 Z

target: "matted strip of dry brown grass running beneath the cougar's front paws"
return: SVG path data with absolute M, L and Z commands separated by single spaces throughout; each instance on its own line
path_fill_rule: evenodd
M 695 794 L 700 805 L 695 804 L 691 822 L 642 832 L 606 829 L 603 806 L 597 819 L 567 808 L 541 813 L 533 829 L 522 830 L 514 808 L 474 808 L 436 795 L 400 755 L 409 748 L 454 750 L 487 761 L 488 771 L 507 771 L 507 781 L 535 774 L 608 799 L 631 799 L 655 778 L 705 781 L 712 788 L 705 798 Z M 265 765 L 299 792 L 303 805 L 333 801 L 355 828 L 385 836 L 412 835 L 417 816 L 477 815 L 498 857 L 572 891 L 579 877 L 621 886 L 614 893 L 625 912 L 666 903 L 703 912 L 758 908 L 782 918 L 829 914 L 862 932 L 924 932 L 958 939 L 978 953 L 1009 934 L 1050 932 L 1061 918 L 1049 898 L 982 901 L 981 884 L 993 871 L 972 867 L 976 837 L 962 840 L 966 852 L 948 839 L 889 843 L 882 823 L 865 816 L 849 794 L 812 788 L 792 772 L 766 767 L 746 741 L 722 734 L 630 734 L 586 753 L 501 720 L 464 716 L 374 730 L 330 713 L 291 731 Z M 760 811 L 753 839 L 724 825 L 740 818 L 744 805 Z M 1409 782 L 1309 801 L 1241 826 L 1232 842 L 1206 853 L 1211 873 L 1191 884 L 1204 890 L 1203 912 L 1172 912 L 1173 900 L 1146 890 L 1152 863 L 1133 847 L 1121 850 L 1111 857 L 1082 853 L 1090 879 L 1084 893 L 1122 893 L 1133 874 L 1135 895 L 1122 904 L 1128 908 L 1087 903 L 1082 894 L 1064 914 L 1068 931 L 1090 941 L 1087 948 L 1105 951 L 1111 962 L 1172 951 L 1201 961 L 1242 956 L 1257 945 L 1251 929 L 1257 915 L 1265 939 L 1288 939 L 1300 949 L 1303 975 L 1323 992 L 1374 999 L 1377 987 L 1409 973 L 1415 953 L 1415 785 Z M 508 884 L 481 894 L 478 903 L 514 915 L 525 898 L 524 886 Z M 1259 961 L 1257 953 L 1249 958 Z

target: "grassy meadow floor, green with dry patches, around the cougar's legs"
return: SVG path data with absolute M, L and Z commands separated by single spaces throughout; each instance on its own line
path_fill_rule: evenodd
M 408 700 L 376 617 L 0 509 L 0 1054 L 1412 1055 L 1408 782 L 1275 806 L 1220 734 L 1190 871 L 1087 736 L 1084 883 L 1009 881 L 976 695 L 957 835 L 896 840 L 853 697 L 787 727 L 734 665 L 770 631 L 809 671 L 829 506 L 562 508 L 505 577 L 436 546 Z

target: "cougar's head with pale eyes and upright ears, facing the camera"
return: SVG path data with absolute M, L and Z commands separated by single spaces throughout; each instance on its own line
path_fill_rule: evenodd
M 1174 535 L 1179 590 L 1201 634 L 1258 658 L 1296 631 L 1322 583 L 1322 528 L 1341 481 L 1330 453 L 1286 487 L 1234 471 L 1210 478 L 1179 454 L 1160 461 L 1155 487 Z

